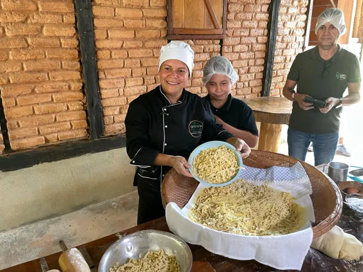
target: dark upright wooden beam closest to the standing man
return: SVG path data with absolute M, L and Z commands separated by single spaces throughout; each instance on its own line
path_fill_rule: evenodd
M 265 69 L 263 70 L 261 96 L 270 96 L 272 74 L 275 59 L 277 26 L 279 20 L 280 0 L 271 1 L 269 8 L 269 22 L 267 34 L 267 51 L 265 57 Z

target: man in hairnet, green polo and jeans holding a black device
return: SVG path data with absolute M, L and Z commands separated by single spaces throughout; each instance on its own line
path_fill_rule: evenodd
M 315 165 L 329 163 L 334 157 L 341 106 L 360 100 L 359 62 L 337 44 L 345 31 L 341 10 L 322 12 L 315 27 L 318 45 L 296 56 L 283 89 L 283 95 L 294 101 L 287 136 L 289 156 L 305 160 L 312 142 Z M 346 88 L 348 95 L 343 98 Z M 325 100 L 327 106 L 306 103 L 307 96 Z

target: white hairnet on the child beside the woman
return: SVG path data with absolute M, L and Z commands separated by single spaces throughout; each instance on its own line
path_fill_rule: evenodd
M 233 69 L 232 63 L 222 56 L 215 56 L 207 62 L 203 69 L 204 86 L 206 86 L 214 74 L 226 75 L 230 78 L 232 85 L 239 79 L 237 72 Z

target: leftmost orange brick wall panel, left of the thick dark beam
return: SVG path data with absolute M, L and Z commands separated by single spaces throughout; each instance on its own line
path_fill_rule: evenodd
M 73 1 L 0 2 L 0 86 L 12 149 L 87 136 Z

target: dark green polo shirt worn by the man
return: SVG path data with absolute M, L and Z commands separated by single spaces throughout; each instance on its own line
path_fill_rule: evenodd
M 339 45 L 334 56 L 325 61 L 316 46 L 296 56 L 287 79 L 297 82 L 297 93 L 319 100 L 341 98 L 348 83 L 360 82 L 359 62 Z M 314 107 L 305 111 L 293 102 L 289 126 L 308 134 L 338 133 L 341 110 L 334 107 L 324 114 Z

